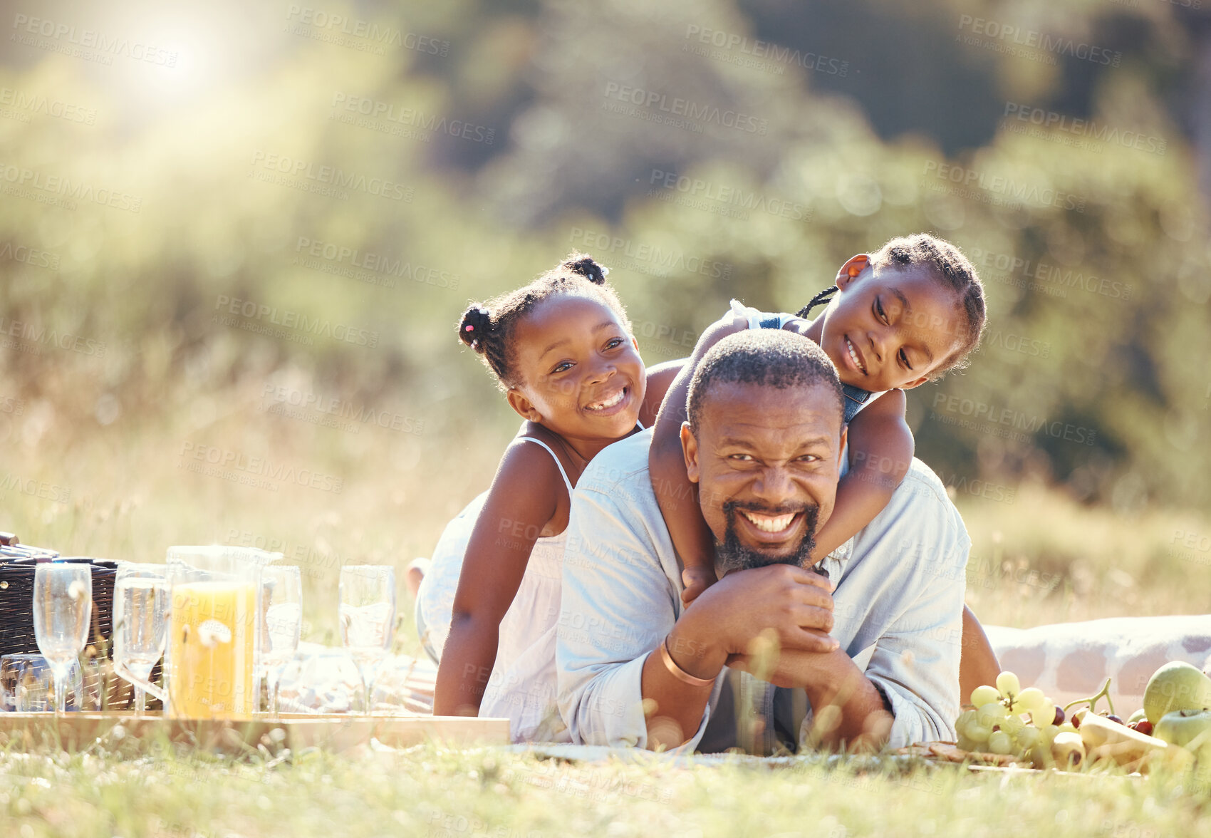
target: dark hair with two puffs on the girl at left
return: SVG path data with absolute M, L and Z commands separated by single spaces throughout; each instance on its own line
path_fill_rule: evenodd
M 527 312 L 545 299 L 557 294 L 576 294 L 596 299 L 608 306 L 631 331 L 626 309 L 614 289 L 606 283 L 607 268 L 584 253 L 569 253 L 556 268 L 529 285 L 493 297 L 487 303 L 472 303 L 458 323 L 458 337 L 475 350 L 497 377 L 503 389 L 517 384 L 513 369 L 513 329 Z

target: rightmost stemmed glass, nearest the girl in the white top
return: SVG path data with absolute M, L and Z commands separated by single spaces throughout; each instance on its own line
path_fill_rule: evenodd
M 374 666 L 391 648 L 395 628 L 395 568 L 346 564 L 340 568 L 340 643 L 362 673 L 369 712 Z

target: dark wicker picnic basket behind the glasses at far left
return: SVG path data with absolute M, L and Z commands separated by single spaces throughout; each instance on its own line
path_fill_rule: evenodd
M 19 543 L 11 533 L 0 533 L 0 655 L 38 654 L 38 639 L 34 636 L 34 574 L 39 563 L 58 559 L 59 553 L 45 547 L 33 547 Z M 92 568 L 92 631 L 88 647 L 82 655 L 86 660 L 111 658 L 110 635 L 114 615 L 114 576 L 117 573 L 116 562 L 104 559 L 67 559 L 87 562 Z M 160 667 L 153 672 L 153 679 L 160 675 Z M 102 695 L 101 705 L 105 710 L 130 710 L 132 690 L 130 684 L 117 678 L 109 667 L 86 670 L 86 683 L 94 694 Z M 148 707 L 157 705 L 148 696 Z

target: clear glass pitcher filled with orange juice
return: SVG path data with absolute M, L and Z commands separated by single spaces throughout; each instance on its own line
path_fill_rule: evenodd
M 281 553 L 253 547 L 168 547 L 171 590 L 163 689 L 177 718 L 249 716 L 260 695 L 262 568 Z

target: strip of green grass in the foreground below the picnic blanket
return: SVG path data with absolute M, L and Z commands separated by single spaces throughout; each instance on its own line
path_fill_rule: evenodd
M 15 838 L 251 836 L 1194 836 L 1207 793 L 1169 776 L 969 774 L 799 759 L 572 764 L 499 750 L 223 760 L 7 754 Z

